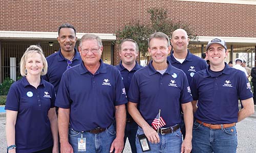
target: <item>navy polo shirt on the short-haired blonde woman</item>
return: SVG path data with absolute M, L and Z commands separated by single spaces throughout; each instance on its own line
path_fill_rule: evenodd
M 15 124 L 16 152 L 35 152 L 53 145 L 48 111 L 54 107 L 52 84 L 41 78 L 33 87 L 27 79 L 14 82 L 6 99 L 6 110 L 17 111 Z

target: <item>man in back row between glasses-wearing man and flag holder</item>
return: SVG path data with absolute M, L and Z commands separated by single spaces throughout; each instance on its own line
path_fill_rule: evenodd
M 126 94 L 128 94 L 129 92 L 129 87 L 131 84 L 131 80 L 133 78 L 133 74 L 137 70 L 142 68 L 142 66 L 139 65 L 136 61 L 138 53 L 139 53 L 138 44 L 133 39 L 124 39 L 121 42 L 120 48 L 119 48 L 119 55 L 121 57 L 121 61 L 119 65 L 116 65 L 116 67 L 118 68 L 118 70 L 122 75 Z M 124 132 L 124 144 L 126 142 L 126 139 L 128 138 L 133 153 L 136 152 L 135 138 L 136 138 L 137 129 L 138 129 L 138 124 L 133 120 L 131 115 L 127 113 L 125 132 Z

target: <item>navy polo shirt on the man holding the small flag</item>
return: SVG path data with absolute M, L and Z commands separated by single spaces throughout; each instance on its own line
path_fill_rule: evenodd
M 185 73 L 172 66 L 162 75 L 154 69 L 152 61 L 133 75 L 128 93 L 129 101 L 137 103 L 139 112 L 151 124 L 161 109 L 164 127 L 181 122 L 181 104 L 192 101 Z

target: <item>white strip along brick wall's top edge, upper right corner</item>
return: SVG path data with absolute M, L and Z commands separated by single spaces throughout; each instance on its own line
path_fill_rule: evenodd
M 256 5 L 255 0 L 176 0 L 176 1 Z

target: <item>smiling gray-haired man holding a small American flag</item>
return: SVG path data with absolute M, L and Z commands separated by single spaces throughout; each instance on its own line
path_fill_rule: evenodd
M 191 151 L 192 97 L 185 73 L 167 61 L 171 48 L 166 34 L 152 34 L 148 39 L 148 53 L 152 61 L 139 69 L 131 81 L 128 111 L 139 125 L 137 152 Z M 187 132 L 183 142 L 181 109 Z

